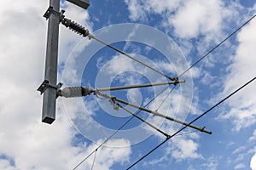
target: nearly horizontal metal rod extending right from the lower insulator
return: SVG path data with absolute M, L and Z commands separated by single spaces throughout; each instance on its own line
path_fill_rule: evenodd
M 130 85 L 130 86 L 123 86 L 123 87 L 110 87 L 110 88 L 96 88 L 97 91 L 111 91 L 111 90 L 123 90 L 123 89 L 130 89 L 130 88 L 147 88 L 152 86 L 161 86 L 166 84 L 177 84 L 185 82 L 184 80 L 181 81 L 173 81 L 173 82 L 156 82 L 156 83 L 148 83 L 148 84 L 140 84 L 140 85 Z

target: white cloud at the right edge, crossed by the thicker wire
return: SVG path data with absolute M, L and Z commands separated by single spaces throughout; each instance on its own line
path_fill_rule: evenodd
M 255 50 L 256 46 L 256 20 L 252 20 L 248 26 L 244 27 L 238 34 L 237 40 L 239 42 L 233 64 L 230 65 L 228 71 L 230 74 L 226 77 L 224 82 L 224 93 L 226 96 L 236 88 L 241 87 L 242 84 L 249 81 L 256 75 L 255 65 Z M 242 89 L 239 94 L 232 96 L 228 100 L 230 111 L 224 113 L 222 118 L 230 118 L 234 122 L 234 129 L 239 131 L 243 127 L 248 127 L 256 122 L 256 97 L 254 95 L 255 82 Z

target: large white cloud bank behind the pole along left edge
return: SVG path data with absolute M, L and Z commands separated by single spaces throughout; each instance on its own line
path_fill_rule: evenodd
M 42 15 L 47 8 L 47 1 L 32 0 L 4 1 L 0 6 L 0 169 L 71 169 L 88 149 L 84 142 L 73 146 L 76 131 L 60 108 L 53 124 L 40 122 L 42 96 L 36 89 L 44 79 L 47 21 Z M 81 9 L 69 4 L 66 8 L 67 15 L 82 24 L 89 18 Z M 60 60 L 65 60 L 64 49 L 79 40 L 69 32 L 61 28 Z M 111 142 L 128 144 L 122 139 Z M 129 147 L 102 152 L 107 164 L 99 159 L 100 167 L 105 169 L 131 154 Z

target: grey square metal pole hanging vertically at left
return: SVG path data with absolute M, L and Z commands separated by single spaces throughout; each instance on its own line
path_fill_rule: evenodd
M 49 6 L 52 7 L 55 12 L 59 12 L 60 0 L 49 0 Z M 44 80 L 48 80 L 50 86 L 44 91 L 42 122 L 49 124 L 55 121 L 55 99 L 57 93 L 57 89 L 53 86 L 55 86 L 57 82 L 60 15 L 55 12 L 49 15 L 44 71 Z

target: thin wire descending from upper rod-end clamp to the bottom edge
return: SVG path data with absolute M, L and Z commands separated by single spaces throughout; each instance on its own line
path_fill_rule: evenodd
M 168 87 L 169 87 L 169 86 L 166 86 L 166 88 L 163 88 L 163 89 L 160 91 L 160 93 L 157 94 L 156 96 L 154 96 L 154 98 L 152 98 L 152 99 L 148 102 L 147 105 L 144 105 L 144 107 L 147 107 L 151 102 L 154 101 L 154 99 L 156 99 L 158 96 L 160 96 L 160 94 L 164 93 L 164 91 L 166 91 L 166 89 L 167 89 Z M 139 114 L 140 112 L 141 112 L 141 110 L 137 111 L 136 114 Z M 112 135 L 110 135 L 110 136 L 108 137 L 108 139 L 104 140 L 104 141 L 102 142 L 102 144 L 100 144 L 100 145 L 96 148 L 96 150 L 100 149 L 103 144 L 106 144 L 109 139 L 111 139 L 116 133 L 119 132 L 119 130 L 121 130 L 123 127 L 125 127 L 125 125 L 127 125 L 129 122 L 131 122 L 131 120 L 132 120 L 133 118 L 134 118 L 134 116 L 131 116 L 131 118 L 130 118 L 128 121 L 126 121 L 121 127 L 119 127 Z M 73 170 L 75 170 L 76 168 L 78 168 L 85 160 L 87 160 L 94 152 L 96 152 L 96 150 L 93 150 L 92 152 L 90 152 L 90 154 L 89 154 L 88 156 L 86 156 L 86 157 L 84 158 L 84 160 L 80 161 L 79 164 L 77 164 L 77 165 L 73 168 Z

